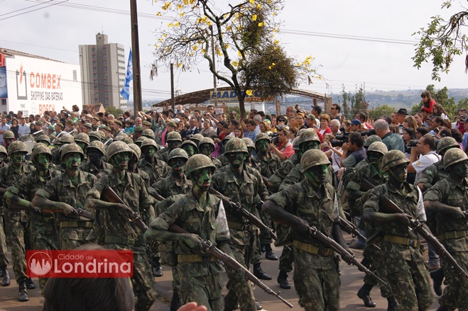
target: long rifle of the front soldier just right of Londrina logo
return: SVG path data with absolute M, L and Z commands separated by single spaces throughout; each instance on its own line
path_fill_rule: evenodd
M 174 233 L 190 233 L 185 231 L 182 227 L 179 227 L 178 225 L 170 225 L 169 226 L 169 231 L 174 232 Z M 219 259 L 220 261 L 224 262 L 227 266 L 235 269 L 235 270 L 241 270 L 244 271 L 246 274 L 247 278 L 254 283 L 255 285 L 259 286 L 262 290 L 265 291 L 265 293 L 268 293 L 269 295 L 273 295 L 276 298 L 280 299 L 282 302 L 285 303 L 288 307 L 293 307 L 288 300 L 285 300 L 283 297 L 280 296 L 280 292 L 275 293 L 271 288 L 269 288 L 267 285 L 265 285 L 262 281 L 260 281 L 254 274 L 252 274 L 249 269 L 245 268 L 239 262 L 236 261 L 236 259 L 232 258 L 228 254 L 224 253 L 221 249 L 218 249 L 216 245 L 212 244 L 210 241 L 202 241 L 203 248 L 205 249 L 205 252 L 208 254 L 214 256 L 216 259 Z

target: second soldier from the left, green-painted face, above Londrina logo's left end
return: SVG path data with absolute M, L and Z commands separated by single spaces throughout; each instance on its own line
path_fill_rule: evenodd
M 52 179 L 53 171 L 50 169 L 52 153 L 42 143 L 36 144 L 31 155 L 36 171 L 22 178 L 14 186 L 6 189 L 5 196 L 21 194 L 26 200 L 31 201 L 40 188 Z M 32 249 L 60 249 L 58 232 L 55 229 L 55 219 L 52 213 L 31 213 L 29 217 L 29 230 Z M 45 278 L 39 278 L 40 290 L 44 289 Z

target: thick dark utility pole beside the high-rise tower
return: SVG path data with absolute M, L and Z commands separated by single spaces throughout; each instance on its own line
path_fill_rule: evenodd
M 131 49 L 133 50 L 132 62 L 134 64 L 135 118 L 138 116 L 138 111 L 143 111 L 143 102 L 141 101 L 140 43 L 138 42 L 138 16 L 136 13 L 136 0 L 130 0 Z

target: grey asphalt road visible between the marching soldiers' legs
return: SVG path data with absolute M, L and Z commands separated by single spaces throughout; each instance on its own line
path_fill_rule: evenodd
M 351 237 L 348 235 L 345 236 L 345 239 L 351 240 Z M 274 248 L 273 251 L 276 253 L 277 256 L 281 254 L 281 249 Z M 354 250 L 357 259 L 361 260 L 362 252 L 359 250 Z M 255 296 L 263 307 L 263 310 L 268 311 L 283 311 L 283 310 L 302 310 L 298 305 L 298 298 L 294 290 L 292 273 L 288 278 L 292 288 L 290 290 L 282 290 L 278 283 L 276 283 L 276 277 L 278 276 L 278 261 L 270 261 L 266 259 L 262 259 L 262 268 L 263 271 L 266 273 L 271 274 L 273 280 L 271 281 L 263 281 L 268 287 L 274 290 L 276 293 L 281 290 L 281 296 L 288 300 L 290 303 L 294 305 L 293 309 L 289 309 L 286 305 L 278 300 L 273 295 L 268 295 L 267 293 L 263 292 L 263 290 L 256 288 Z M 371 297 L 376 302 L 377 306 L 375 308 L 366 308 L 360 300 L 356 293 L 361 288 L 362 278 L 364 273 L 359 271 L 354 266 L 348 266 L 347 264 L 340 265 L 341 270 L 341 287 L 340 287 L 340 305 L 342 310 L 374 310 L 374 311 L 383 311 L 387 310 L 387 302 L 386 299 L 382 298 L 380 295 L 379 288 L 374 288 L 371 291 Z M 19 302 L 16 298 L 18 295 L 18 286 L 16 285 L 16 281 L 14 280 L 13 276 L 13 268 L 11 264 L 9 264 L 9 272 L 11 275 L 11 285 L 8 287 L 1 287 L 0 286 L 0 310 L 7 310 L 7 311 L 36 311 L 42 310 L 43 298 L 40 296 L 40 290 L 37 280 L 36 282 L 37 288 L 35 290 L 28 290 L 29 301 L 28 302 Z M 168 311 L 168 303 L 170 301 L 170 296 L 172 295 L 171 292 L 171 284 L 172 284 L 172 276 L 170 273 L 170 268 L 164 267 L 163 268 L 163 277 L 155 278 L 155 285 L 160 298 L 156 300 L 151 310 L 160 310 L 160 311 Z M 227 282 L 227 276 L 224 273 L 223 275 L 224 283 Z M 226 294 L 226 288 L 223 289 L 223 294 Z M 434 294 L 434 302 L 432 303 L 432 307 L 430 310 L 436 310 L 438 307 L 437 303 L 437 296 Z

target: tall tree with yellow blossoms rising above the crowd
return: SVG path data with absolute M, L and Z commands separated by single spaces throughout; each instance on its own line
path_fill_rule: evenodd
M 188 70 L 206 61 L 210 72 L 236 91 L 241 118 L 245 118 L 245 97 L 254 90 L 263 97 L 276 97 L 288 94 L 301 80 L 321 79 L 312 57 L 298 62 L 275 39 L 276 16 L 282 7 L 283 0 L 244 0 L 224 8 L 209 0 L 166 1 L 161 7 L 164 15 L 177 18 L 156 30 L 160 38 L 151 77 L 170 63 Z M 217 60 L 223 66 L 215 66 Z

